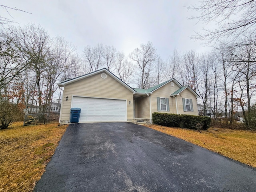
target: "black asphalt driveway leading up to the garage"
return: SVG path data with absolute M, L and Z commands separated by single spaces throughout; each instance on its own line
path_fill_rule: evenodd
M 256 191 L 256 170 L 132 123 L 68 126 L 35 192 Z

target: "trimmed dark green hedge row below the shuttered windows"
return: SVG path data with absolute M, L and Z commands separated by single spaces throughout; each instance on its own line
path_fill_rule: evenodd
M 211 118 L 194 115 L 177 115 L 169 113 L 153 113 L 154 124 L 167 127 L 181 127 L 196 130 L 207 130 L 210 128 Z

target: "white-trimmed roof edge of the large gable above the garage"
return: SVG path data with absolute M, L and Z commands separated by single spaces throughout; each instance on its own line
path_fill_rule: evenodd
M 127 88 L 128 90 L 130 90 L 131 92 L 135 93 L 136 91 L 131 88 L 130 86 L 128 86 L 125 82 L 123 82 L 122 80 L 120 80 L 117 76 L 115 76 L 114 74 L 112 74 L 112 72 L 110 72 L 109 70 L 107 70 L 106 68 L 103 68 L 103 69 L 100 69 L 100 70 L 97 70 L 97 71 L 94 71 L 94 72 L 91 72 L 91 73 L 88 73 L 88 74 L 85 74 L 85 75 L 82 75 L 82 76 L 79 76 L 79 77 L 76 77 L 76 78 L 73 78 L 73 79 L 69 79 L 69 80 L 65 80 L 65 81 L 62 81 L 58 84 L 59 87 L 64 87 L 65 85 L 67 84 L 70 84 L 70 83 L 73 83 L 73 82 L 76 82 L 76 81 L 79 81 L 79 80 L 82 80 L 82 79 L 85 79 L 85 78 L 88 78 L 90 76 L 94 76 L 96 74 L 99 74 L 99 73 L 106 73 L 108 74 L 109 76 L 111 76 L 114 80 L 116 80 L 117 82 L 119 82 L 120 84 L 122 84 L 125 88 Z

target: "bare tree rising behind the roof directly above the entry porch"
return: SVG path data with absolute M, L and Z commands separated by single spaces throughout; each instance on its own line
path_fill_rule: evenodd
M 158 55 L 156 48 L 151 42 L 141 44 L 140 48 L 136 48 L 130 53 L 130 59 L 136 63 L 139 70 L 138 86 L 142 89 L 149 88 L 152 85 L 150 80 L 152 74 L 152 66 L 156 62 Z

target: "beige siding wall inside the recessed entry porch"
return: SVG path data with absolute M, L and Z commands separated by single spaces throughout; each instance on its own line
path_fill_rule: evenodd
M 149 96 L 138 98 L 138 118 L 150 119 Z

